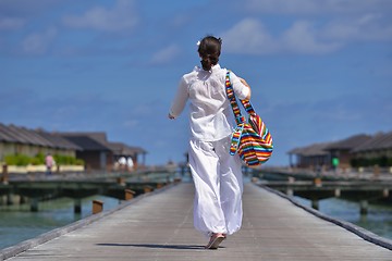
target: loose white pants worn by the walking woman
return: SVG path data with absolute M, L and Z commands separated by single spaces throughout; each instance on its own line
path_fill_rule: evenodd
M 189 141 L 195 183 L 194 225 L 206 236 L 233 234 L 242 224 L 243 176 L 237 154 L 230 156 L 230 136 L 218 141 Z

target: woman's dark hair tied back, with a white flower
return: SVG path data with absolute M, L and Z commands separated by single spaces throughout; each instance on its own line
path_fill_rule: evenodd
M 201 57 L 201 66 L 206 71 L 210 71 L 212 65 L 218 64 L 221 51 L 222 39 L 213 36 L 206 36 L 200 40 L 198 53 Z

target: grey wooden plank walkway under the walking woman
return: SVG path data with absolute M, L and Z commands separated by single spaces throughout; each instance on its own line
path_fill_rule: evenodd
M 205 250 L 193 195 L 192 184 L 176 185 L 7 260 L 392 260 L 387 248 L 253 184 L 245 185 L 242 229 Z

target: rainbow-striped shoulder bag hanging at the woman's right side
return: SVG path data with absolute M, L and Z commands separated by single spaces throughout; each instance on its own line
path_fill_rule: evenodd
M 246 122 L 245 117 L 241 114 L 233 86 L 230 82 L 230 71 L 226 73 L 225 87 L 237 125 L 232 135 L 230 154 L 234 156 L 237 152 L 247 166 L 260 165 L 268 161 L 272 154 L 272 136 L 261 117 L 256 114 L 249 100 L 241 100 L 249 115 L 248 121 Z

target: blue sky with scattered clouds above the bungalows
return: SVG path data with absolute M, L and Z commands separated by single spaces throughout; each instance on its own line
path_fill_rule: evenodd
M 390 0 L 1 0 L 0 122 L 106 132 L 148 164 L 183 161 L 186 111 L 167 114 L 208 34 L 252 86 L 274 138 L 268 164 L 392 130 Z

